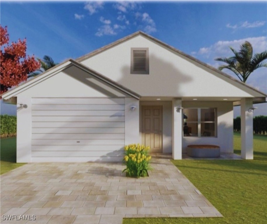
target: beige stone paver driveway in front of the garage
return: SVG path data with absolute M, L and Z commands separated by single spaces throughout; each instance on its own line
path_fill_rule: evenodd
M 121 163 L 29 163 L 1 175 L 1 223 L 122 223 L 129 217 L 222 217 L 167 159 L 153 158 L 146 178 Z M 19 216 L 17 216 L 19 218 Z

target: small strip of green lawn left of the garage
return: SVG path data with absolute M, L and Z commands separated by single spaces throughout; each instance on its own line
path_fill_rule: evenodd
M 25 163 L 16 163 L 16 137 L 0 139 L 0 173 L 4 174 Z

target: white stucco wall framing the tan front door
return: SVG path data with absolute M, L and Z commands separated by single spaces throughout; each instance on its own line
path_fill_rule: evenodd
M 162 152 L 172 153 L 172 102 L 171 101 L 140 101 L 139 141 L 142 142 L 142 110 L 141 107 L 162 106 Z

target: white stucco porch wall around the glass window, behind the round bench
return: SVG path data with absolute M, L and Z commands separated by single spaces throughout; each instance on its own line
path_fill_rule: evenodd
M 183 153 L 187 145 L 212 144 L 221 147 L 223 153 L 233 153 L 233 104 L 232 102 L 182 102 L 183 108 L 217 108 L 216 137 L 182 137 Z

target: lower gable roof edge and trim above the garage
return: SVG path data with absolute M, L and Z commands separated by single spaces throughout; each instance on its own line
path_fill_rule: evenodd
M 3 99 L 10 99 L 11 97 L 16 96 L 20 92 L 23 92 L 24 90 L 27 90 L 28 88 L 31 88 L 34 85 L 37 85 L 38 83 L 46 80 L 47 78 L 50 78 L 51 76 L 54 76 L 58 72 L 66 69 L 68 67 L 71 67 L 71 66 L 75 66 L 75 67 L 87 72 L 88 74 L 94 76 L 96 79 L 106 83 L 107 85 L 114 87 L 115 89 L 117 89 L 121 92 L 124 92 L 125 94 L 127 94 L 131 97 L 134 97 L 135 99 L 140 99 L 140 97 L 141 97 L 136 92 L 133 92 L 133 91 L 129 90 L 128 88 L 125 88 L 124 86 L 122 86 L 122 85 L 114 82 L 113 80 L 107 78 L 106 76 L 103 76 L 102 74 L 99 74 L 98 72 L 88 68 L 84 64 L 76 62 L 75 60 L 72 60 L 72 59 L 66 60 L 65 62 L 62 62 L 61 64 L 56 65 L 55 67 L 43 72 L 42 74 L 36 76 L 35 78 L 23 83 L 22 85 L 17 86 L 16 88 L 13 88 L 11 90 L 8 90 L 7 92 L 3 93 L 1 95 L 1 97 L 3 97 Z

